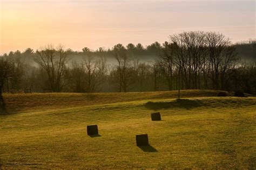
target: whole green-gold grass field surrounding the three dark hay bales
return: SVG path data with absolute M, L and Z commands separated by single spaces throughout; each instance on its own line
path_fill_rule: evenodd
M 0 167 L 255 169 L 256 97 L 217 93 L 4 95 Z M 136 146 L 143 133 L 149 147 Z

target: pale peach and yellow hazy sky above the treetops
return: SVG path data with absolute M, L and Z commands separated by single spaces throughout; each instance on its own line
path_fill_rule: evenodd
M 63 44 L 81 51 L 163 43 L 173 33 L 217 31 L 255 38 L 255 1 L 0 0 L 0 53 Z

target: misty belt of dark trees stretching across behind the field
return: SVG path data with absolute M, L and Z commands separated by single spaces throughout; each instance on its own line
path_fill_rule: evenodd
M 256 94 L 256 41 L 232 44 L 223 34 L 191 31 L 144 47 L 117 44 L 81 52 L 48 45 L 0 57 L 4 92 L 242 90 Z M 2 95 L 1 95 L 2 96 Z M 2 101 L 2 98 L 0 98 Z

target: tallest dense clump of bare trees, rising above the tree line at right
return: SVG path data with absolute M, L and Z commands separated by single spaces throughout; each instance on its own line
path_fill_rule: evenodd
M 157 60 L 169 90 L 173 87 L 173 73 L 178 76 L 177 69 L 181 88 L 200 89 L 202 82 L 208 88 L 209 77 L 213 89 L 226 88 L 226 73 L 237 63 L 235 48 L 228 38 L 214 32 L 190 31 L 174 34 L 170 40 Z

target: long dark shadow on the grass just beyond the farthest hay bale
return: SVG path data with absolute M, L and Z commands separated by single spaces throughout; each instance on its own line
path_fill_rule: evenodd
M 159 109 L 169 109 L 169 108 L 184 108 L 184 109 L 192 109 L 202 106 L 203 103 L 199 100 L 189 100 L 183 98 L 177 98 L 171 102 L 147 102 L 145 103 L 145 107 L 151 110 L 159 110 Z

